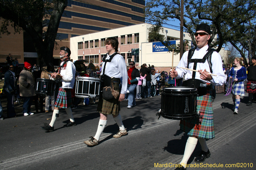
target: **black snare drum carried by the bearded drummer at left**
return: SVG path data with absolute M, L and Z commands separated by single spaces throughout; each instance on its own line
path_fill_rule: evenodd
M 52 96 L 54 94 L 55 84 L 56 82 L 54 80 L 37 78 L 35 93 Z

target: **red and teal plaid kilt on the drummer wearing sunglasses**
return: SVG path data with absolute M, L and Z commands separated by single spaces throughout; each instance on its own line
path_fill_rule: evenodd
M 197 97 L 197 107 L 202 118 L 191 120 L 181 120 L 180 130 L 188 133 L 190 137 L 200 137 L 203 139 L 213 139 L 213 110 L 212 110 L 212 90 L 207 90 L 207 94 Z

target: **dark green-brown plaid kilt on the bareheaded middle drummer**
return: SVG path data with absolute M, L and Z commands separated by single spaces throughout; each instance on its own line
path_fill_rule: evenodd
M 115 81 L 115 78 L 112 79 L 114 90 L 119 92 L 119 81 Z M 118 101 L 119 98 L 105 100 L 103 99 L 102 95 L 100 95 L 99 103 L 97 107 L 97 112 L 107 115 L 118 115 L 120 111 L 120 101 Z

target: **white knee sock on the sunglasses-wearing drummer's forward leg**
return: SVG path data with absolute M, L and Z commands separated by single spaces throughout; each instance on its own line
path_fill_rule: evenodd
M 184 155 L 183 158 L 180 162 L 180 164 L 182 166 L 184 166 L 186 168 L 186 164 L 188 162 L 188 159 L 190 158 L 190 156 L 192 155 L 195 147 L 197 144 L 197 138 L 194 137 L 188 137 L 187 143 L 186 143 L 186 147 L 185 147 L 185 151 L 184 151 Z

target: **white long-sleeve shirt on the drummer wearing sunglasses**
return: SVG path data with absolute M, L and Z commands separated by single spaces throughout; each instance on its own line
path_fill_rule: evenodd
M 203 48 L 196 48 L 191 59 L 202 59 L 204 57 L 204 55 L 208 52 L 207 49 L 208 49 L 208 45 L 204 46 Z M 222 69 L 221 56 L 216 51 L 214 51 L 212 53 L 211 62 L 212 62 L 212 74 L 216 74 L 217 76 L 212 76 L 211 81 L 205 81 L 200 78 L 200 73 L 196 72 L 195 78 L 199 79 L 205 83 L 211 83 L 212 85 L 216 85 L 216 86 L 223 85 L 226 82 L 227 77 L 225 76 L 223 69 Z M 175 77 L 175 79 L 182 78 L 184 74 L 186 74 L 185 80 L 192 78 L 193 71 L 181 69 L 180 67 L 193 69 L 194 63 L 189 63 L 189 67 L 187 67 L 187 66 L 188 66 L 188 51 L 186 51 L 183 54 L 183 56 L 180 60 L 180 63 L 176 67 L 178 76 Z M 204 70 L 204 69 L 206 69 L 206 71 L 208 71 L 210 73 L 210 67 L 209 67 L 207 60 L 205 60 L 204 63 L 197 63 L 196 70 Z

